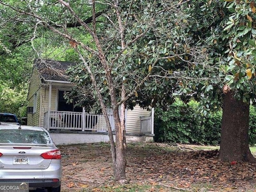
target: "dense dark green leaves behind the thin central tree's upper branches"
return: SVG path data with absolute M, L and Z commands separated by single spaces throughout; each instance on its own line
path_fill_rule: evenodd
M 186 28 L 186 23 L 182 22 L 184 16 L 179 10 L 179 6 L 175 6 L 175 3 L 156 5 L 154 1 L 138 1 L 135 4 L 131 1 L 121 4 L 119 11 L 126 13 L 129 10 L 129 15 L 131 15 L 122 15 L 122 21 L 126 23 L 124 40 L 127 47 L 125 49 L 120 45 L 120 38 L 117 38 L 118 31 L 116 31 L 115 26 L 117 20 L 116 16 L 112 15 L 115 10 L 107 10 L 105 14 L 108 17 L 102 16 L 101 18 L 104 22 L 99 24 L 98 36 L 106 54 L 108 65 L 112 66 L 116 97 L 118 101 L 121 100 L 121 90 L 124 86 L 127 93 L 132 93 L 127 101 L 127 106 L 130 109 L 136 104 L 146 108 L 155 105 L 157 102 L 163 102 L 163 104 L 173 102 L 172 92 L 176 89 L 176 80 L 158 79 L 154 75 L 160 74 L 163 70 L 176 71 L 182 66 L 182 60 L 178 57 L 174 59 L 174 56 L 184 54 L 186 50 L 184 50 L 183 43 L 186 39 L 183 37 L 182 40 L 177 41 L 178 35 L 172 36 L 171 34 L 174 34 L 177 28 Z M 141 7 L 144 7 L 144 12 L 137 11 Z M 162 13 L 162 9 L 166 9 L 166 12 Z M 157 13 L 158 11 L 159 13 Z M 174 16 L 174 11 L 180 18 Z M 161 19 L 162 14 L 168 18 L 164 21 L 168 26 L 167 28 Z M 111 20 L 111 22 L 109 23 L 108 20 Z M 178 23 L 181 23 L 181 25 L 178 26 Z M 143 33 L 145 34 L 138 38 L 136 42 L 130 43 L 131 40 Z M 175 52 L 172 51 L 173 47 L 175 47 Z M 108 82 L 102 65 L 95 65 L 95 63 L 99 63 L 99 60 L 97 56 L 90 52 L 83 52 L 83 55 L 87 58 L 86 61 L 95 74 L 101 94 L 104 96 L 104 102 L 110 106 Z M 161 59 L 158 60 L 158 58 Z M 149 77 L 140 88 L 133 91 L 134 87 L 140 84 L 149 72 L 154 75 Z M 72 94 L 80 96 L 80 104 L 86 107 L 94 105 L 98 108 L 96 91 L 91 84 L 90 75 L 84 70 L 84 64 L 70 68 L 68 75 L 76 85 Z M 87 103 L 90 105 L 86 105 Z

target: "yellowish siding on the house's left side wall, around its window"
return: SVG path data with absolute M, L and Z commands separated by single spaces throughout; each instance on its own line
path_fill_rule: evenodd
M 40 75 L 38 70 L 35 68 L 33 69 L 32 77 L 31 77 L 31 82 L 29 86 L 29 91 L 28 91 L 28 106 L 33 107 L 34 106 L 34 94 L 36 94 L 36 112 L 33 114 L 28 114 L 28 125 L 30 126 L 39 126 L 39 114 L 40 114 L 40 86 L 41 86 L 41 81 L 40 81 Z

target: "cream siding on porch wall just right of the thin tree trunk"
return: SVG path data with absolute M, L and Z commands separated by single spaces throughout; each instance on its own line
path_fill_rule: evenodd
M 133 110 L 127 110 L 126 133 L 140 133 L 140 117 L 150 116 L 151 112 L 136 105 Z

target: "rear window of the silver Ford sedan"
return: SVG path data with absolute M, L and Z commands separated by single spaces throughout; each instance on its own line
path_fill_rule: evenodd
M 50 136 L 36 130 L 0 130 L 0 143 L 50 144 Z

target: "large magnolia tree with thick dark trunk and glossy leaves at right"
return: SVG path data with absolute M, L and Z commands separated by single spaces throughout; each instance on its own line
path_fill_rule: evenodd
M 188 61 L 186 76 L 200 80 L 183 79 L 181 94 L 200 100 L 204 115 L 223 108 L 221 160 L 256 162 L 248 143 L 249 105 L 256 102 L 256 4 L 200 0 L 185 6 L 188 35 L 192 44 L 205 46 L 207 56 L 204 63 Z

